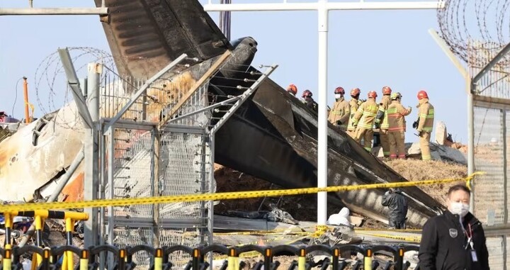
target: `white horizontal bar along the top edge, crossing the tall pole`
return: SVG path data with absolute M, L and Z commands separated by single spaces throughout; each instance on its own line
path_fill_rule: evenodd
M 321 0 L 322 1 L 322 0 Z M 205 11 L 314 11 L 370 10 L 370 9 L 443 9 L 443 1 L 421 2 L 327 2 L 322 6 L 312 3 L 250 3 L 250 4 L 205 4 Z

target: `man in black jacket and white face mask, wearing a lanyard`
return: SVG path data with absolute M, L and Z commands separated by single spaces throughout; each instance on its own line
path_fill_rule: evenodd
M 482 223 L 469 213 L 470 191 L 452 186 L 448 210 L 424 225 L 419 248 L 420 270 L 489 270 Z

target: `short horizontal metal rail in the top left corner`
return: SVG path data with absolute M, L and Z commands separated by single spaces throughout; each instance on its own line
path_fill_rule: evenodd
M 0 16 L 10 15 L 108 15 L 108 8 L 0 9 Z

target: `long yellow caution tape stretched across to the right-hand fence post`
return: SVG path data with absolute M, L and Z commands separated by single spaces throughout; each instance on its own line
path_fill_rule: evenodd
M 69 209 L 69 208 L 88 208 L 88 207 L 106 207 L 106 206 L 130 206 L 130 205 L 153 205 L 157 203 L 178 203 L 190 201 L 218 201 L 233 200 L 239 198 L 261 198 L 261 197 L 277 197 L 289 195 L 312 194 L 317 192 L 339 192 L 339 191 L 356 191 L 360 189 L 388 189 L 404 186 L 420 186 L 431 184 L 445 184 L 455 181 L 467 181 L 477 174 L 475 172 L 465 179 L 441 179 L 441 180 L 424 180 L 424 181 L 405 181 L 383 184 L 365 184 L 355 186 L 329 186 L 323 188 L 307 188 L 307 189 L 280 189 L 269 191 L 241 191 L 241 192 L 224 192 L 224 193 L 206 193 L 206 194 L 186 194 L 176 196 L 157 196 L 145 198 L 118 198 L 118 199 L 102 199 L 94 201 L 79 202 L 56 202 L 56 203 L 26 203 L 0 206 L 0 213 L 11 210 L 29 211 L 29 210 L 50 210 L 50 209 Z

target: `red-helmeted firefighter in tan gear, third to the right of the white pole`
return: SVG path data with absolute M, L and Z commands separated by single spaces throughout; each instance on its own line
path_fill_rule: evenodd
M 375 91 L 368 92 L 368 100 L 363 102 L 353 117 L 353 125 L 356 126 L 356 137 L 354 140 L 361 142 L 363 138 L 363 147 L 368 152 L 372 151 L 372 139 L 375 116 L 379 110 L 378 103 L 375 103 L 377 93 Z

